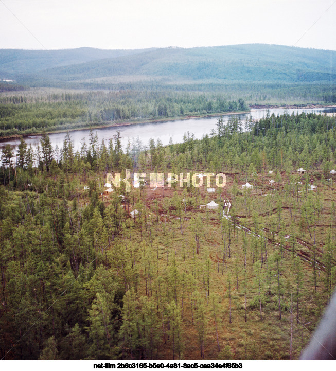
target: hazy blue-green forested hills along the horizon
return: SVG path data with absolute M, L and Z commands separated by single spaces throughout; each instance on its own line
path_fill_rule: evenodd
M 36 63 L 32 67 L 33 59 L 30 58 L 28 63 L 24 58 L 28 51 L 16 50 L 15 61 L 10 63 L 5 58 L 8 50 L 0 50 L 0 71 L 3 72 L 0 78 L 6 78 L 2 76 L 7 72 L 19 82 L 37 85 L 120 76 L 137 80 L 168 78 L 170 81 L 223 82 L 334 82 L 336 79 L 336 51 L 331 50 L 265 44 L 128 51 L 76 50 L 73 53 L 63 51 L 62 65 L 58 67 L 56 58 L 44 59 L 47 51 L 33 52 Z

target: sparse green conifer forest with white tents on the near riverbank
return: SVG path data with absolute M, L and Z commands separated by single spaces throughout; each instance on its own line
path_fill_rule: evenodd
M 64 100 L 52 104 L 82 114 Z M 5 104 L 20 116 L 48 103 Z M 202 139 L 165 147 L 122 148 L 120 133 L 98 143 L 94 131 L 78 152 L 70 133 L 62 148 L 45 132 L 37 148 L 22 138 L 15 158 L 7 145 L 1 358 L 297 359 L 336 284 L 335 149 L 335 118 L 305 113 L 219 118 Z M 121 182 L 106 195 L 106 175 L 126 169 L 147 181 L 222 172 L 226 185 Z M 202 207 L 211 200 L 216 210 Z

